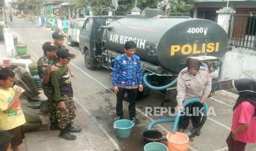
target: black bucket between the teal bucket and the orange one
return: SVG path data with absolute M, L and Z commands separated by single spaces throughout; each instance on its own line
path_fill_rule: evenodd
M 163 139 L 162 133 L 156 130 L 144 131 L 142 136 L 145 144 L 150 142 L 160 142 Z

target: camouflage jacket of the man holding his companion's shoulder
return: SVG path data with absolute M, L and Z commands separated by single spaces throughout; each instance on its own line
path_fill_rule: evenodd
M 46 56 L 40 57 L 40 59 L 37 62 L 37 70 L 39 77 L 43 79 L 48 69 L 51 66 L 55 65 L 56 62 L 57 59 L 48 59 Z M 47 84 L 43 84 L 43 92 L 48 97 L 48 100 L 51 100 L 53 95 L 51 81 Z

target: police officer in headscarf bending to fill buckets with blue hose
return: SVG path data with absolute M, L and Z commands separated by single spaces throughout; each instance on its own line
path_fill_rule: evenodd
M 201 62 L 198 59 L 190 58 L 187 60 L 187 67 L 182 69 L 178 74 L 177 81 L 177 108 L 182 108 L 182 103 L 189 98 L 198 97 L 201 102 L 194 102 L 185 107 L 184 112 L 193 114 L 195 111 L 200 111 L 206 98 L 211 92 L 211 77 L 208 69 L 200 66 Z M 198 109 L 197 109 L 198 108 Z M 195 111 L 194 111 L 195 110 Z M 187 112 L 186 112 L 187 111 Z M 193 112 L 194 111 L 194 112 Z M 191 117 L 194 129 L 197 129 L 201 123 L 201 114 L 196 113 Z M 189 115 L 183 115 L 179 119 L 178 131 L 183 132 L 187 129 L 189 123 Z M 195 132 L 196 136 L 200 135 L 200 130 Z

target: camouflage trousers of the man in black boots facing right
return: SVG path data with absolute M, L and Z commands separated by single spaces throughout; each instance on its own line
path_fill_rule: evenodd
M 72 97 L 64 95 L 62 96 L 62 100 L 66 104 L 66 110 L 59 109 L 58 104 L 56 104 L 56 117 L 60 129 L 64 129 L 73 121 L 75 118 L 75 111 L 77 110 Z

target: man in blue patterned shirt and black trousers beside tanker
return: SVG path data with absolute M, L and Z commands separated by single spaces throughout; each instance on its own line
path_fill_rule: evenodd
M 140 59 L 139 56 L 135 55 L 135 49 L 136 43 L 134 41 L 128 41 L 124 44 L 124 51 L 126 53 L 115 59 L 112 82 L 117 95 L 117 117 L 115 121 L 123 118 L 123 98 L 127 92 L 130 120 L 134 120 L 135 124 L 139 124 L 139 120 L 135 118 L 135 99 L 137 91 L 143 90 L 143 85 Z

